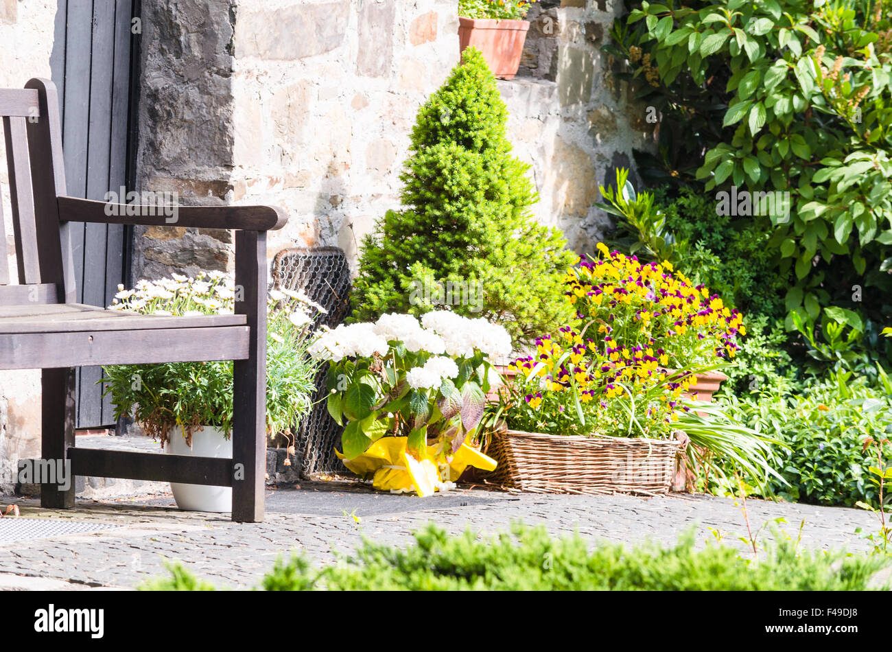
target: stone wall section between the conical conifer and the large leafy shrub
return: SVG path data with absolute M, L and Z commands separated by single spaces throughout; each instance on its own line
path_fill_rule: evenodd
M 654 141 L 646 107 L 615 77 L 621 64 L 601 51 L 622 10 L 616 0 L 533 4 L 518 76 L 499 82 L 515 152 L 531 164 L 539 190 L 533 213 L 559 227 L 580 253 L 591 252 L 611 227 L 593 206 L 598 186 L 614 184 L 617 167 L 633 168 L 632 149 Z

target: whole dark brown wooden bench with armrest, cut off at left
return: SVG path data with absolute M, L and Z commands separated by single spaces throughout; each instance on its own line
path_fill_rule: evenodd
M 0 89 L 18 285 L 10 285 L 0 238 L 0 369 L 42 370 L 42 458 L 70 460 L 73 475 L 233 488 L 234 521 L 263 518 L 266 470 L 266 232 L 285 225 L 268 206 L 156 210 L 66 196 L 59 103 L 53 83 Z M 111 212 L 111 215 L 107 215 Z M 128 212 L 130 215 L 128 215 Z M 138 213 L 133 215 L 133 213 Z M 151 213 L 151 214 L 150 214 Z M 234 315 L 161 317 L 78 304 L 68 223 L 235 229 Z M 0 206 L 0 231 L 4 229 Z M 235 360 L 233 458 L 76 449 L 75 367 Z M 36 426 L 36 425 L 35 425 Z M 74 506 L 74 483 L 41 484 L 45 508 Z

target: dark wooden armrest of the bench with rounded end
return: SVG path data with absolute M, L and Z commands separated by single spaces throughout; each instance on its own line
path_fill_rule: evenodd
M 272 231 L 288 221 L 288 214 L 277 206 L 155 206 L 65 196 L 56 200 L 59 219 L 67 222 Z

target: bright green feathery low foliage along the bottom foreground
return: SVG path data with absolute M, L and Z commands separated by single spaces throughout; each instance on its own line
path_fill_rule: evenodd
M 316 570 L 305 557 L 278 560 L 265 590 L 863 590 L 883 557 L 846 557 L 782 541 L 756 562 L 723 545 L 695 549 L 689 532 L 670 548 L 629 548 L 578 534 L 555 538 L 516 524 L 511 534 L 450 536 L 434 524 L 406 549 L 365 541 L 351 557 Z M 193 582 L 195 582 L 193 580 Z M 182 569 L 150 590 L 189 590 Z

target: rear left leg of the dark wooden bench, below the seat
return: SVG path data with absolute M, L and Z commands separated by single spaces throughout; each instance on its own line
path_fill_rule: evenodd
M 42 433 L 40 457 L 53 460 L 58 471 L 64 469 L 65 477 L 57 481 L 68 483 L 62 490 L 58 483 L 41 483 L 40 506 L 43 508 L 74 507 L 74 475 L 70 473 L 68 450 L 74 447 L 74 369 L 43 369 Z M 62 460 L 62 466 L 58 466 Z

